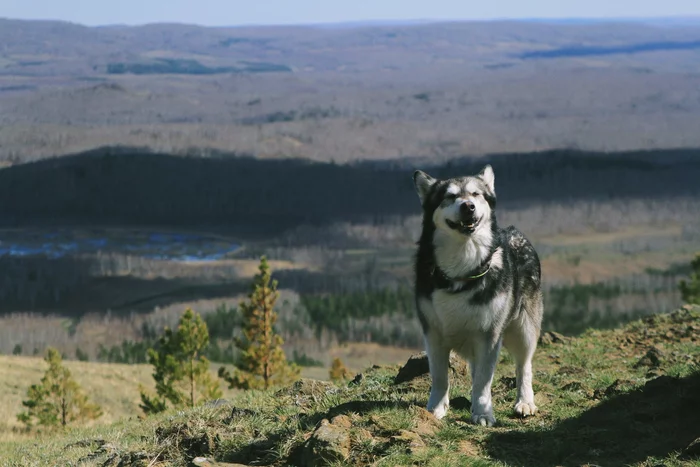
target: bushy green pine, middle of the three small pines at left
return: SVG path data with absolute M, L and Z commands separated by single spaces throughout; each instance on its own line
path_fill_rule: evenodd
M 141 409 L 146 414 L 173 407 L 194 407 L 221 397 L 219 382 L 209 373 L 209 360 L 203 351 L 209 345 L 209 331 L 202 317 L 187 309 L 175 331 L 165 328 L 157 349 L 148 349 L 153 365 L 156 396 L 141 388 Z

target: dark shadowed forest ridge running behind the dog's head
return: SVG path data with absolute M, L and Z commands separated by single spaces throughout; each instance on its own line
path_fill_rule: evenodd
M 349 165 L 236 155 L 180 157 L 128 148 L 0 169 L 0 226 L 167 226 L 278 234 L 304 224 L 381 224 L 419 213 L 411 174 L 478 172 L 490 163 L 499 203 L 696 196 L 700 150 L 547 151 Z

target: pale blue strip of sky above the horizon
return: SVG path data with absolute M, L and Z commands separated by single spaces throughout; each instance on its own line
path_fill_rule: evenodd
M 0 17 L 87 25 L 700 16 L 700 0 L 0 0 Z

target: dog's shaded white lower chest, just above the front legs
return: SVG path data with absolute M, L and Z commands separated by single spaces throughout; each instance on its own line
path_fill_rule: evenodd
M 418 306 L 429 325 L 445 338 L 464 336 L 465 333 L 494 330 L 508 313 L 509 297 L 496 294 L 483 304 L 471 303 L 469 292 L 450 293 L 435 290 L 431 298 L 421 299 Z

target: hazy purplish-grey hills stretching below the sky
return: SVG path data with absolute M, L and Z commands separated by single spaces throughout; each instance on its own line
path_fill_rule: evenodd
M 105 145 L 320 161 L 700 146 L 700 26 L 0 20 L 0 164 Z

